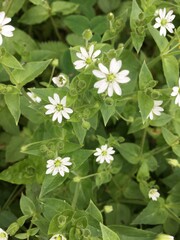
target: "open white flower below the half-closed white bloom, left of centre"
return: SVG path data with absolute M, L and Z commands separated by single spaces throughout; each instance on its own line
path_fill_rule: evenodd
M 66 96 L 60 100 L 60 97 L 57 93 L 54 93 L 54 98 L 48 97 L 51 104 L 45 106 L 45 114 L 53 114 L 52 121 L 58 120 L 59 123 L 62 122 L 62 118 L 70 119 L 69 114 L 73 113 L 71 108 L 66 107 Z

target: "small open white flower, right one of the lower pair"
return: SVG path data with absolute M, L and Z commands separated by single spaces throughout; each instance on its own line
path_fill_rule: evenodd
M 110 163 L 114 160 L 112 154 L 114 154 L 115 151 L 112 147 L 108 147 L 107 144 L 102 145 L 100 148 L 96 148 L 96 152 L 94 153 L 94 156 L 96 156 L 96 162 L 103 163 L 106 161 L 107 163 Z

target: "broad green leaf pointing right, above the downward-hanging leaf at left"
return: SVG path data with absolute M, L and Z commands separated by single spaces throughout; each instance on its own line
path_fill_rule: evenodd
M 51 60 L 41 62 L 28 62 L 23 67 L 24 70 L 15 69 L 12 71 L 12 77 L 16 84 L 24 86 L 39 76 L 50 64 Z

